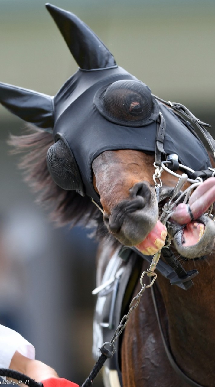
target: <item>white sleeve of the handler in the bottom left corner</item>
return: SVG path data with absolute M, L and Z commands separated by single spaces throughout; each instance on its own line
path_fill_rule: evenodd
M 15 351 L 35 359 L 35 348 L 19 333 L 0 325 L 0 368 L 9 368 Z

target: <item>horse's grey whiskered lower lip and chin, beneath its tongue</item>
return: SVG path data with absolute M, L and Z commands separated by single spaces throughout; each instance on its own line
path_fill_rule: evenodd
M 177 252 L 185 258 L 194 259 L 211 253 L 215 244 L 215 224 L 212 219 L 201 216 L 186 226 L 168 223 L 168 232 Z

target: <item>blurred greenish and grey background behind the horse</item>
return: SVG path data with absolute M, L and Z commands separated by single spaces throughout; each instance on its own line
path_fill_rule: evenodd
M 79 16 L 117 63 L 163 99 L 215 128 L 214 0 L 53 0 Z M 44 0 L 0 0 L 0 81 L 54 95 L 77 65 Z M 39 360 L 79 384 L 88 376 L 96 243 L 55 229 L 22 181 L 9 133 L 24 123 L 0 107 L 0 323 Z M 98 378 L 95 386 L 102 386 Z

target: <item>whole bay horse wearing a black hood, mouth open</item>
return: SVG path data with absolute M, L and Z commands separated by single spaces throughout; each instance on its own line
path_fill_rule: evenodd
M 187 291 L 158 272 L 154 293 L 145 293 L 129 318 L 120 345 L 120 369 L 124 387 L 213 387 L 214 170 L 191 123 L 213 152 L 214 140 L 206 124 L 184 106 L 155 97 L 148 86 L 118 67 L 75 15 L 46 7 L 79 69 L 54 97 L 0 84 L 3 106 L 33 124 L 27 134 L 10 138 L 16 152 L 26 152 L 20 165 L 26 180 L 38 192 L 38 201 L 51 205 L 57 224 L 94 228 L 100 240 L 97 285 L 122 245 L 135 247 L 134 254 L 144 257 L 159 252 L 163 256 L 167 236 L 176 255 L 173 261 L 186 274 L 196 275 L 198 269 Z M 174 171 L 169 164 L 165 169 L 166 162 Z M 183 166 L 186 181 L 175 195 Z M 197 187 L 192 195 L 190 183 Z M 183 190 L 189 192 L 186 200 Z M 164 224 L 163 209 L 174 195 L 175 206 L 170 213 L 167 208 Z M 141 270 L 147 268 L 141 261 Z M 186 282 L 185 277 L 181 281 Z

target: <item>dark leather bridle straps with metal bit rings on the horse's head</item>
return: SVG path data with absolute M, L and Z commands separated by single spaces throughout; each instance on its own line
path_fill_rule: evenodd
M 183 115 L 186 118 L 189 118 L 191 122 L 193 122 L 201 131 L 201 133 L 204 135 L 205 139 L 207 140 L 210 148 L 212 149 L 213 155 L 215 156 L 215 140 L 210 135 L 210 133 L 204 128 L 210 127 L 209 124 L 201 122 L 198 118 L 196 118 L 193 113 L 191 113 L 184 105 L 178 104 L 178 103 L 172 103 L 164 101 L 161 98 L 155 97 L 159 101 L 161 101 L 163 104 L 166 104 L 169 106 L 172 110 L 174 110 L 174 113 L 176 113 L 177 116 L 179 116 L 180 120 L 186 125 L 186 127 L 198 138 L 196 133 L 194 132 L 193 127 L 191 126 L 189 121 L 184 120 Z M 163 224 L 168 223 L 168 219 L 170 218 L 172 214 L 173 207 L 179 202 L 179 200 L 184 200 L 184 202 L 187 201 L 189 198 L 189 195 L 193 191 L 194 188 L 198 187 L 203 180 L 206 180 L 206 178 L 213 177 L 215 175 L 215 169 L 208 168 L 208 170 L 203 171 L 194 171 L 193 169 L 189 168 L 188 166 L 185 166 L 181 163 L 179 163 L 178 156 L 176 154 L 170 154 L 166 157 L 165 160 L 163 160 L 163 154 L 165 154 L 163 150 L 163 141 L 165 136 L 165 120 L 162 117 L 162 113 L 159 113 L 160 120 L 158 120 L 157 125 L 157 136 L 156 136 L 156 149 L 155 149 L 155 173 L 153 174 L 153 181 L 155 183 L 155 191 L 157 194 L 158 202 L 162 201 L 163 199 L 169 199 L 169 202 L 167 202 L 163 208 L 162 208 L 162 214 L 160 216 L 160 221 L 162 221 Z M 182 173 L 182 175 L 177 174 L 175 171 L 177 170 L 183 170 L 186 173 Z M 169 188 L 166 192 L 162 192 L 162 172 L 166 171 L 172 176 L 175 176 L 179 179 L 178 183 L 174 188 Z M 181 192 L 181 188 L 183 185 L 189 182 L 191 185 L 189 188 L 187 188 L 185 191 Z M 100 211 L 103 213 L 103 209 L 101 206 L 95 202 L 91 198 L 92 202 L 100 209 Z M 211 217 L 211 210 L 208 212 L 208 217 Z M 122 252 L 126 250 L 127 247 L 122 247 Z M 138 255 L 140 255 L 144 260 L 146 260 L 148 263 L 151 264 L 151 257 L 147 255 L 143 255 L 136 247 L 129 247 L 130 250 L 134 250 Z M 162 255 L 165 259 L 165 262 L 158 260 L 156 264 L 157 271 L 162 274 L 165 278 L 169 279 L 170 283 L 172 285 L 177 285 L 182 289 L 189 289 L 193 285 L 192 279 L 198 275 L 198 271 L 196 269 L 193 269 L 191 271 L 186 271 L 179 260 L 175 257 L 174 253 L 170 249 L 170 240 L 167 241 L 166 245 L 162 249 Z

